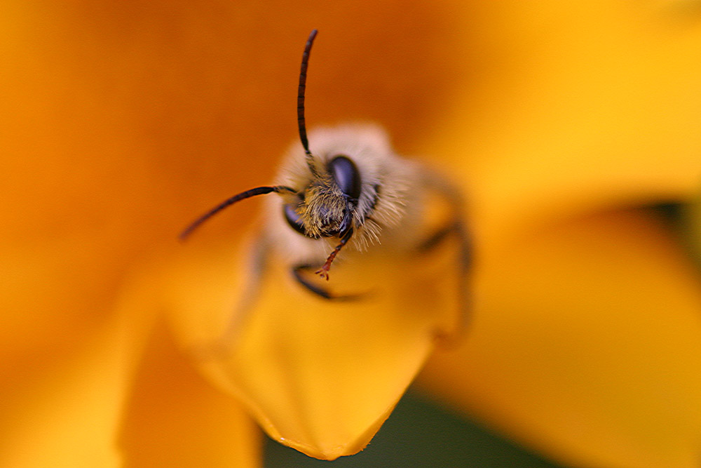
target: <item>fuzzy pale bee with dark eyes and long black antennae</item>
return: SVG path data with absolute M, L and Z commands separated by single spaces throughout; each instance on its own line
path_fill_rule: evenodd
M 306 74 L 314 29 L 306 41 L 299 72 L 297 121 L 301 148 L 287 154 L 276 185 L 256 187 L 236 194 L 186 227 L 186 239 L 203 222 L 238 201 L 263 194 L 266 200 L 265 227 L 254 249 L 257 275 L 265 269 L 266 252 L 275 249 L 289 262 L 297 283 L 325 300 L 351 300 L 361 295 L 339 295 L 323 281 L 313 281 L 315 272 L 329 280 L 336 258 L 358 255 L 383 243 L 383 248 L 417 253 L 431 250 L 448 236 L 456 236 L 458 274 L 465 276 L 470 264 L 470 243 L 463 222 L 460 192 L 425 166 L 397 156 L 386 133 L 372 125 L 318 128 L 307 137 L 304 118 Z M 313 151 L 309 141 L 313 143 Z M 442 196 L 451 215 L 443 227 L 417 239 L 421 226 L 424 193 Z M 329 253 L 330 250 L 330 253 Z

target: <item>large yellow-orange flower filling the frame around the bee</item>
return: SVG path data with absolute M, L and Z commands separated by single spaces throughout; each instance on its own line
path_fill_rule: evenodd
M 3 464 L 256 466 L 250 412 L 352 453 L 431 356 L 423 388 L 558 460 L 695 466 L 697 272 L 637 208 L 701 179 L 681 4 L 8 4 Z M 196 372 L 177 349 L 225 325 L 256 203 L 175 234 L 270 178 L 308 25 L 308 121 L 379 120 L 470 194 L 474 324 L 433 353 L 414 292 L 449 286 L 426 279 L 440 265 L 369 259 L 402 275 L 362 309 L 319 308 L 273 267 L 238 360 Z

